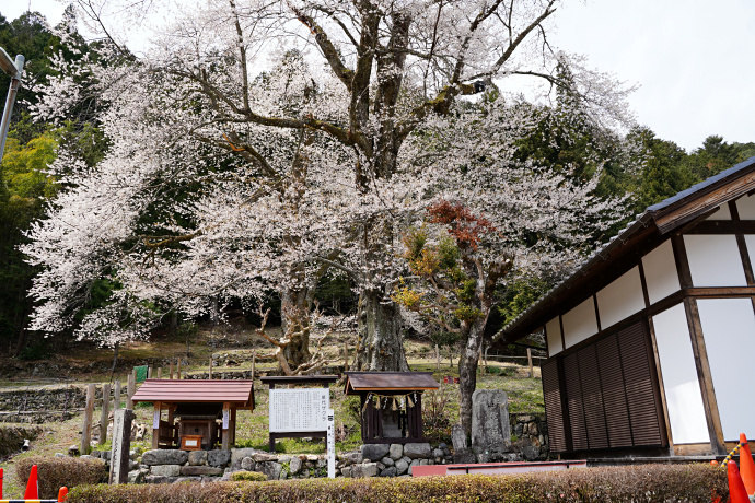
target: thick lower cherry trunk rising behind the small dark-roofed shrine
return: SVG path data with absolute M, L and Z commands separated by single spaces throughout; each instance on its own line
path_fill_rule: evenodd
M 407 372 L 400 335 L 400 309 L 379 291 L 364 291 L 359 296 L 359 370 Z

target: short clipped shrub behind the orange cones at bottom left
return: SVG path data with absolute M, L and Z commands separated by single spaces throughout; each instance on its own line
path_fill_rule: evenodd
M 34 465 L 37 466 L 39 477 L 40 499 L 58 498 L 58 490 L 63 486 L 71 489 L 107 481 L 107 470 L 102 459 L 32 456 L 20 460 L 15 466 L 15 478 L 21 487 L 26 487 Z

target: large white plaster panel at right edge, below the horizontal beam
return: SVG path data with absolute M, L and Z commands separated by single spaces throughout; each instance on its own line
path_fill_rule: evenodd
M 723 437 L 739 442 L 740 433 L 753 431 L 755 400 L 755 314 L 750 299 L 697 301 L 713 390 L 721 417 Z M 747 433 L 755 435 L 755 433 Z

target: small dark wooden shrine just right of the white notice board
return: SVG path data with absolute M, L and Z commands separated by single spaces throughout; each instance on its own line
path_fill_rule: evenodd
M 427 442 L 422 391 L 438 389 L 432 372 L 347 372 L 346 395 L 359 395 L 362 442 Z

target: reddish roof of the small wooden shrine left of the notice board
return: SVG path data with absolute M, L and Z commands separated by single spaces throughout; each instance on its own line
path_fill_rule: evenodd
M 133 402 L 138 401 L 254 407 L 254 384 L 241 379 L 147 379 L 133 395 Z

